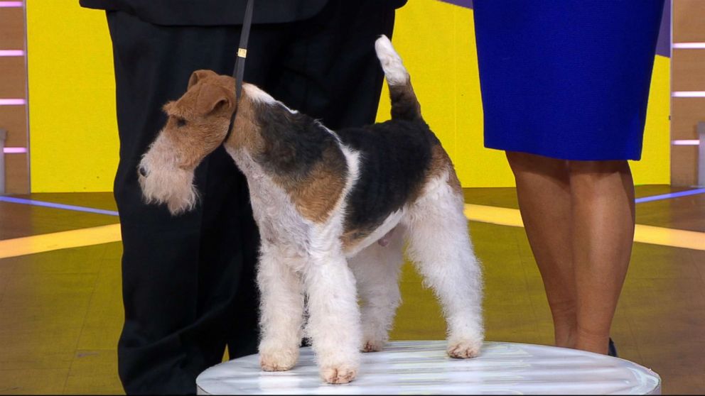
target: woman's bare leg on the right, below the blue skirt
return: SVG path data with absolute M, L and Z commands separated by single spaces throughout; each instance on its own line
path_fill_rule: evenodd
M 576 348 L 606 353 L 634 238 L 634 183 L 627 161 L 571 161 Z

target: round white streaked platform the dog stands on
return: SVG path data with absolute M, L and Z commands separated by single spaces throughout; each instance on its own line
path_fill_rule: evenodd
M 395 341 L 363 353 L 357 378 L 327 385 L 311 348 L 289 371 L 267 373 L 250 355 L 205 370 L 199 395 L 660 395 L 661 378 L 623 359 L 574 349 L 486 342 L 480 356 L 448 358 L 446 341 Z

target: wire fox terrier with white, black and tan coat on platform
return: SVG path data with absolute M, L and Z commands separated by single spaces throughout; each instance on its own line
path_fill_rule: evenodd
M 389 339 L 405 247 L 443 307 L 448 356 L 480 353 L 482 274 L 461 184 L 392 43 L 381 36 L 375 50 L 390 121 L 331 131 L 253 84 L 236 101 L 235 79 L 198 70 L 139 165 L 146 202 L 174 215 L 197 204 L 194 169 L 221 144 L 247 177 L 262 237 L 263 370 L 292 368 L 308 336 L 325 382 L 353 380 L 360 351 Z

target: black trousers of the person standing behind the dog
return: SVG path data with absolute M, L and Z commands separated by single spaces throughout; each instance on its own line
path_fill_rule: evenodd
M 394 10 L 381 7 L 331 0 L 306 21 L 253 26 L 245 81 L 330 128 L 374 122 L 383 78 L 374 42 L 394 25 Z M 225 346 L 231 358 L 257 352 L 259 234 L 247 181 L 218 148 L 195 170 L 198 207 L 171 216 L 142 202 L 136 167 L 166 121 L 161 106 L 181 97 L 191 72 L 232 72 L 240 27 L 156 26 L 120 11 L 107 19 L 124 246 L 119 375 L 129 394 L 193 394 Z

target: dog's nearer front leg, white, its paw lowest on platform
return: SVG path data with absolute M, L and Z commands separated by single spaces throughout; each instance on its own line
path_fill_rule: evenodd
M 349 383 L 360 365 L 360 309 L 355 277 L 343 253 L 325 253 L 306 266 L 308 334 L 321 377 L 332 384 Z

